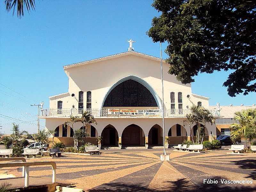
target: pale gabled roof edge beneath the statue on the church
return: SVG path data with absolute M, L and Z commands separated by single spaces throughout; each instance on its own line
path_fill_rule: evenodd
M 82 66 L 82 65 L 85 65 L 85 64 L 88 64 L 88 63 L 95 63 L 95 62 L 98 62 L 98 61 L 114 59 L 114 58 L 118 58 L 118 57 L 122 57 L 122 56 L 126 56 L 126 55 L 135 55 L 135 56 L 143 57 L 143 58 L 150 59 L 150 60 L 161 61 L 161 59 L 158 58 L 158 57 L 154 57 L 154 56 L 147 55 L 147 54 L 140 53 L 140 52 L 136 52 L 136 51 L 127 51 L 127 52 L 118 53 L 118 54 L 115 54 L 115 55 L 100 57 L 98 59 L 93 59 L 93 60 L 83 61 L 83 62 L 74 63 L 74 64 L 70 64 L 70 65 L 65 65 L 65 66 L 63 66 L 63 68 L 64 69 L 73 68 L 73 67 Z

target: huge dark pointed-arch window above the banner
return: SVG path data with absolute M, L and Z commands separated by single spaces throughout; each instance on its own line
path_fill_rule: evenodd
M 152 93 L 132 79 L 118 84 L 106 98 L 103 107 L 157 107 Z

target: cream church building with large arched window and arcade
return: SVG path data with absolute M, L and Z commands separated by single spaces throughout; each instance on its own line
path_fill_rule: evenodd
M 69 116 L 81 116 L 84 110 L 97 121 L 88 127 L 86 141 L 102 146 L 163 145 L 162 105 L 165 135 L 170 144 L 190 140 L 196 126 L 184 125 L 194 104 L 209 108 L 209 98 L 192 93 L 190 84 L 182 84 L 168 74 L 163 60 L 164 103 L 162 103 L 161 59 L 130 49 L 127 52 L 64 66 L 68 92 L 49 97 L 50 108 L 42 110 L 45 128 L 55 131 L 56 142 L 73 145 L 73 131 L 64 122 Z M 216 109 L 213 116 L 218 116 Z M 74 129 L 83 129 L 75 123 Z M 205 140 L 216 135 L 216 125 L 206 124 Z

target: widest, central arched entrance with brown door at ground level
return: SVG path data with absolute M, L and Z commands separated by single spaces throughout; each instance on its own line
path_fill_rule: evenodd
M 143 130 L 135 124 L 125 127 L 122 133 L 122 145 L 126 146 L 144 146 L 145 134 Z

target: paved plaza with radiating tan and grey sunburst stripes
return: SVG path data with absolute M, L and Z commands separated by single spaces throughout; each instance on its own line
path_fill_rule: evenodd
M 161 162 L 161 153 L 161 149 L 102 150 L 102 155 L 63 154 L 60 158 L 27 161 L 55 161 L 58 180 L 89 192 L 256 191 L 256 154 L 228 154 L 228 150 L 198 154 L 169 149 L 172 160 Z M 20 176 L 21 168 L 8 173 Z M 51 167 L 30 167 L 30 176 L 52 177 Z M 204 179 L 215 184 L 204 184 Z M 222 184 L 221 180 L 253 183 Z

